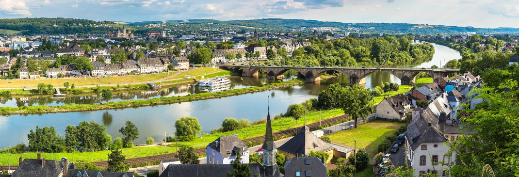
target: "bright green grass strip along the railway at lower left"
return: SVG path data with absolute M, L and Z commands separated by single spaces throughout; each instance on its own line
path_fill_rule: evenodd
M 167 147 L 168 153 L 176 151 L 174 147 Z M 132 147 L 122 148 L 122 154 L 126 155 L 126 158 L 145 157 L 164 154 L 164 146 L 144 146 L 144 147 Z M 105 161 L 108 160 L 108 151 L 99 151 L 91 153 L 42 153 L 42 158 L 49 160 L 61 160 L 61 157 L 66 157 L 71 162 L 94 162 L 94 161 Z M 7 166 L 9 154 L 0 154 L 0 165 Z M 37 153 L 24 153 L 24 154 L 11 154 L 11 165 L 18 165 L 18 158 L 36 158 Z

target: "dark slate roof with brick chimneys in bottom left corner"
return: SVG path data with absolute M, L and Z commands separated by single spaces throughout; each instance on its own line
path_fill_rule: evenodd
M 22 164 L 18 166 L 13 177 L 26 176 L 58 176 L 63 172 L 63 165 L 60 161 L 45 160 L 45 165 L 42 165 L 43 159 L 24 159 Z

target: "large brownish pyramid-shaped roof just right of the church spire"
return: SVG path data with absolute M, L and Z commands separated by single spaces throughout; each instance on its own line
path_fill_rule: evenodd
M 322 141 L 319 137 L 310 132 L 309 129 L 310 128 L 307 126 L 302 127 L 301 132 L 295 135 L 295 137 L 292 137 L 285 144 L 281 145 L 278 148 L 278 151 L 283 151 L 294 156 L 304 156 L 310 153 L 310 149 L 322 152 L 333 149 L 332 146 L 326 144 L 326 142 Z

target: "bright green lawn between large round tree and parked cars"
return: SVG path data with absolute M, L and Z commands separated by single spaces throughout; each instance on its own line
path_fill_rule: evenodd
M 359 125 L 357 128 L 348 129 L 327 135 L 330 140 L 354 146 L 353 140 L 357 140 L 357 147 L 366 148 L 369 151 L 377 152 L 377 147 L 385 137 L 393 134 L 402 122 L 385 120 L 374 120 L 366 124 Z

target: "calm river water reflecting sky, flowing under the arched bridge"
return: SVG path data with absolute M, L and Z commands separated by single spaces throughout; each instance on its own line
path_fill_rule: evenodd
M 431 61 L 424 63 L 404 64 L 402 67 L 430 67 L 440 66 L 450 59 L 459 59 L 456 50 L 445 46 L 433 44 L 435 54 Z M 264 77 L 230 77 L 232 84 L 229 89 L 244 88 L 269 83 L 271 80 Z M 400 80 L 385 72 L 375 72 L 366 77 L 366 87 L 373 88 L 384 82 L 400 83 Z M 146 106 L 137 108 L 124 108 L 118 110 L 102 110 L 90 112 L 29 114 L 29 115 L 5 115 L 0 116 L 0 147 L 28 143 L 27 134 L 36 126 L 53 126 L 58 134 L 64 135 L 67 125 L 78 125 L 80 121 L 94 120 L 106 126 L 106 132 L 112 138 L 122 137 L 118 132 L 125 122 L 130 120 L 139 128 L 139 138 L 135 144 L 144 144 L 146 137 L 151 135 L 156 141 L 162 140 L 165 131 L 174 134 L 176 119 L 184 116 L 196 117 L 200 121 L 202 130 L 209 132 L 213 128 L 221 127 L 222 120 L 226 117 L 237 119 L 247 118 L 251 121 L 267 116 L 267 96 L 270 96 L 270 114 L 272 116 L 285 113 L 290 104 L 301 103 L 310 98 L 316 98 L 321 90 L 328 85 L 340 83 L 348 85 L 346 76 L 321 80 L 318 84 L 303 84 L 290 88 L 268 90 L 256 93 L 242 94 L 240 96 L 225 97 L 219 99 L 183 102 L 168 105 Z M 112 101 L 137 100 L 157 97 L 183 96 L 204 92 L 197 86 L 188 84 L 174 87 L 165 87 L 158 91 L 128 91 L 118 93 Z M 11 98 L 0 97 L 1 106 L 22 105 L 63 105 L 63 104 L 98 104 L 100 98 L 97 94 L 72 96 L 63 100 L 55 100 L 47 97 Z

